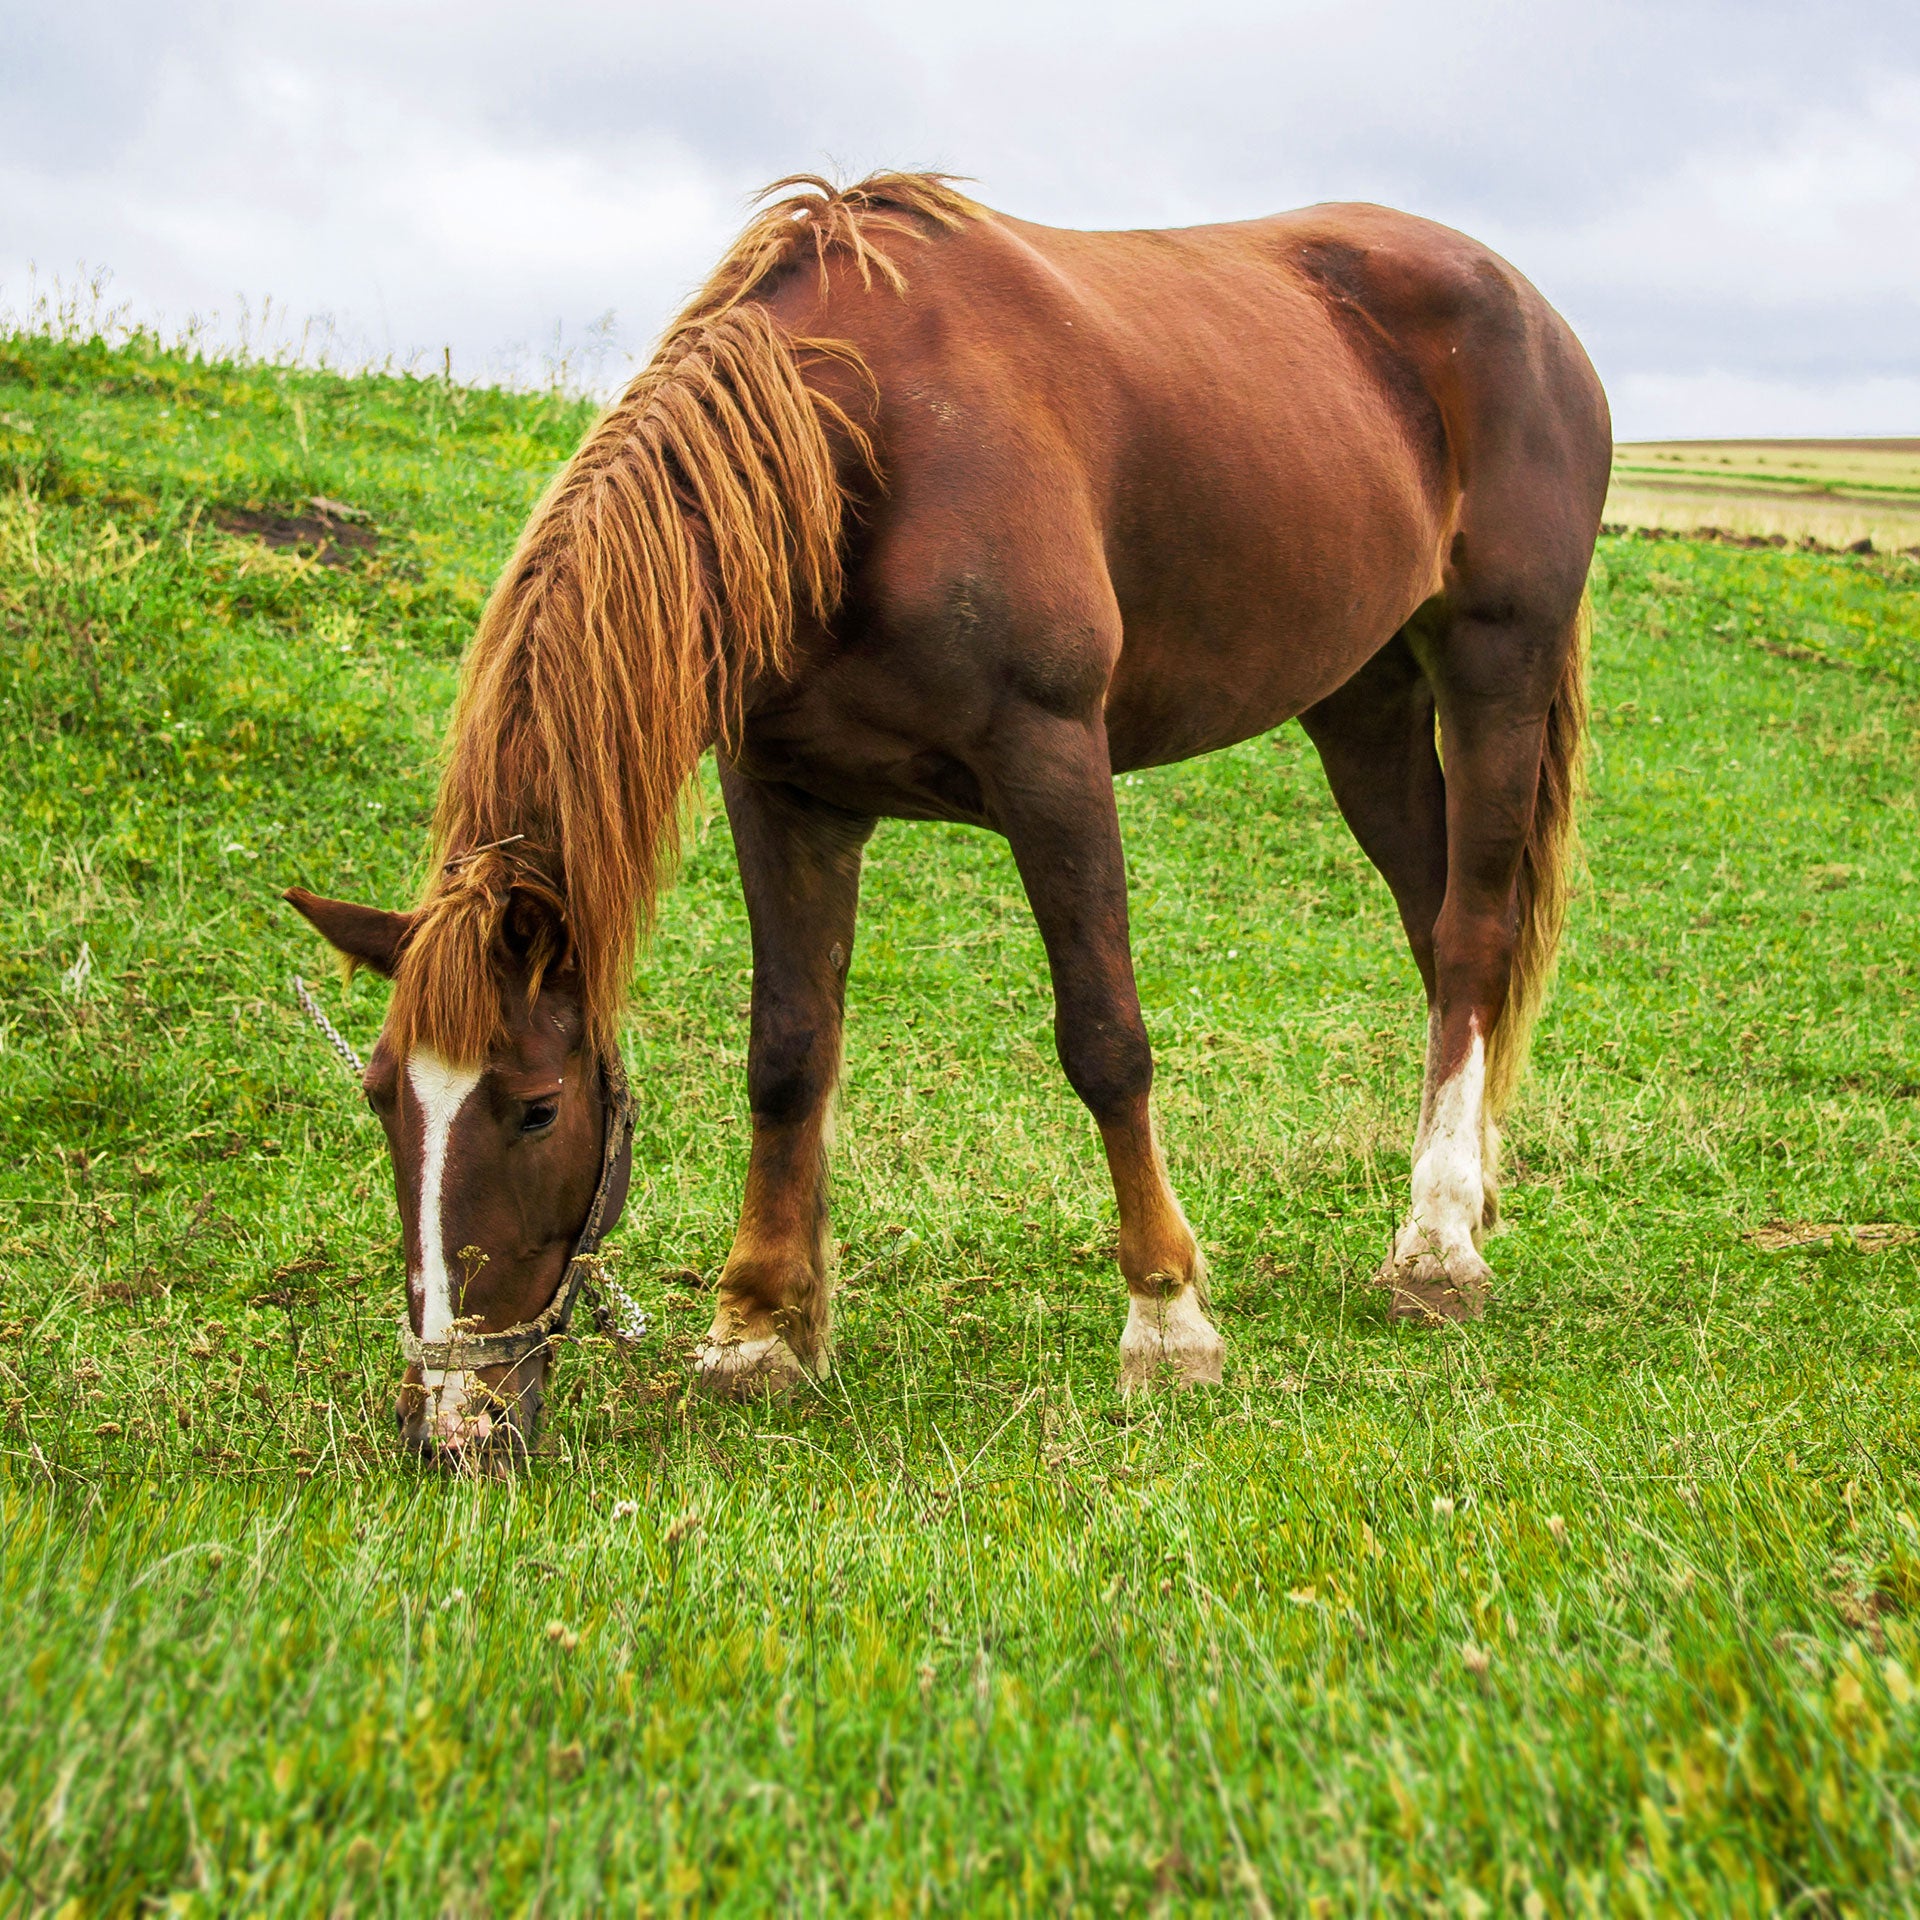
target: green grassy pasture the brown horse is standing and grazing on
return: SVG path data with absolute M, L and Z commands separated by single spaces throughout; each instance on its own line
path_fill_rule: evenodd
M 1121 783 L 1215 1394 L 1116 1394 L 1004 847 L 889 826 L 839 1371 L 687 1398 L 745 1160 L 708 816 L 630 1031 L 655 1334 L 576 1342 L 522 1480 L 442 1482 L 288 975 L 363 1046 L 380 995 L 276 895 L 407 899 L 584 419 L 0 340 L 0 1912 L 1912 1910 L 1920 1244 L 1759 1229 L 1920 1227 L 1920 564 L 1601 547 L 1476 1327 L 1367 1286 L 1423 1016 L 1298 730 Z M 255 538 L 311 495 L 369 515 L 324 564 Z

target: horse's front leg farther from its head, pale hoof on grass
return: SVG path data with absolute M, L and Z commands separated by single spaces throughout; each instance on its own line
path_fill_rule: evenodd
M 1114 1175 L 1129 1296 L 1121 1388 L 1217 1382 L 1223 1342 L 1206 1313 L 1206 1261 L 1154 1131 L 1154 1056 L 1133 985 L 1106 728 L 1098 716 L 1023 714 L 996 728 L 983 774 L 1046 943 L 1060 1064 L 1100 1127 Z

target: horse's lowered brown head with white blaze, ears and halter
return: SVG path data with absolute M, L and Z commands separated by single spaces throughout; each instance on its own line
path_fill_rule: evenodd
M 351 962 L 401 975 L 367 1066 L 386 1129 L 413 1329 L 396 1417 L 407 1448 L 459 1469 L 516 1465 L 534 1444 L 557 1306 L 582 1231 L 620 1217 L 632 1137 L 618 1060 L 595 1056 L 578 979 L 551 964 L 538 904 L 509 906 L 488 943 L 492 1039 L 449 1058 L 405 1002 L 419 914 L 286 895 Z M 511 1329 L 534 1329 L 518 1336 Z

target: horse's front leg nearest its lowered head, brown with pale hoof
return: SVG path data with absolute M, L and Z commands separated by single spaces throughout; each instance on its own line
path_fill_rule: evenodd
M 724 760 L 720 789 L 753 925 L 753 1150 L 695 1365 L 714 1392 L 774 1392 L 828 1367 L 828 1131 L 860 851 L 874 822 L 747 780 Z

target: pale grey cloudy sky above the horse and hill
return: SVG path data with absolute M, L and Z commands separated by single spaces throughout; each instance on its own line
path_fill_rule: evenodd
M 1920 434 L 1916 0 L 0 0 L 15 311 L 108 269 L 605 384 L 753 188 L 877 165 L 1069 227 L 1388 202 L 1546 290 L 1620 438 Z

